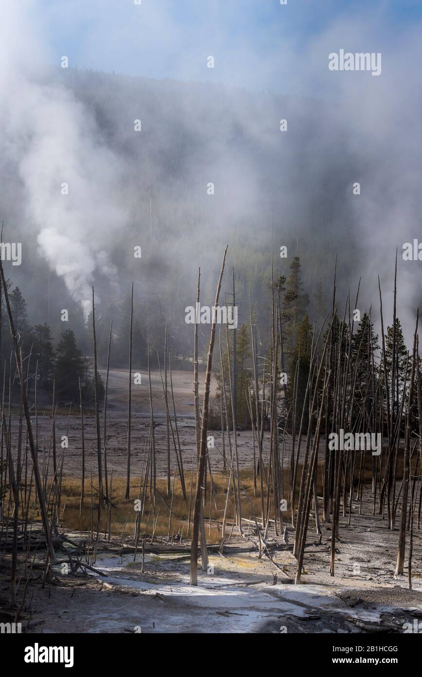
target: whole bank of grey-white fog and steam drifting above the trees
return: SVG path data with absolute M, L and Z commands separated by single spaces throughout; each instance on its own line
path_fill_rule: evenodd
M 87 313 L 91 286 L 107 315 L 136 280 L 144 312 L 179 324 L 184 340 L 197 269 L 203 298 L 211 300 L 229 244 L 240 321 L 250 282 L 266 318 L 273 254 L 284 274 L 291 256 L 300 256 L 311 300 L 320 278 L 331 294 L 338 255 L 339 311 L 362 276 L 360 307 L 372 304 L 377 320 L 379 274 L 388 324 L 398 248 L 398 308 L 409 338 L 421 297 L 421 263 L 402 259 L 404 242 L 420 233 L 420 26 L 381 32 L 381 3 L 365 21 L 359 13 L 327 16 L 306 44 L 287 39 L 283 59 L 271 35 L 274 49 L 259 60 L 246 37 L 233 42 L 222 28 L 224 3 L 213 5 L 202 52 L 201 36 L 182 47 L 168 3 L 156 3 L 143 15 L 143 34 L 156 51 L 148 58 L 144 45 L 143 77 L 133 77 L 99 72 L 112 70 L 101 22 L 128 24 L 114 3 L 75 3 L 76 26 L 97 17 L 84 56 L 99 70 L 72 60 L 62 68 L 66 46 L 57 56 L 48 39 L 60 4 L 43 14 L 40 2 L 1 2 L 0 217 L 5 242 L 22 241 L 22 265 L 8 265 L 7 275 L 22 287 L 33 321 L 51 321 L 47 314 L 70 303 Z M 119 35 L 120 45 L 126 37 L 131 44 L 130 35 Z M 154 58 L 160 44 L 179 54 L 172 79 L 154 78 L 164 68 Z M 329 53 L 339 49 L 381 53 L 381 74 L 330 71 Z M 212 50 L 218 68 L 206 72 Z M 281 245 L 287 261 L 279 259 Z M 228 277 L 227 290 L 230 284 Z

